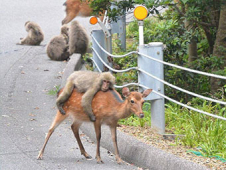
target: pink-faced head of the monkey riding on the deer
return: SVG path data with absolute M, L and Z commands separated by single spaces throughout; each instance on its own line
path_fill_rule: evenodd
M 106 92 L 109 89 L 114 89 L 115 77 L 110 72 L 100 74 L 101 91 Z

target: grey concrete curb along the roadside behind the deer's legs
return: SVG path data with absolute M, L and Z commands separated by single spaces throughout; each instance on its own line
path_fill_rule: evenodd
M 81 55 L 74 54 L 66 65 L 61 86 L 64 86 L 67 77 L 75 70 L 82 68 Z M 94 127 L 91 123 L 81 126 L 81 130 L 96 141 Z M 114 153 L 110 130 L 106 126 L 101 129 L 101 146 Z M 146 145 L 136 138 L 117 131 L 118 147 L 123 160 L 142 168 L 151 170 L 206 170 L 207 167 L 179 158 L 173 154 Z M 104 158 L 103 158 L 104 160 Z

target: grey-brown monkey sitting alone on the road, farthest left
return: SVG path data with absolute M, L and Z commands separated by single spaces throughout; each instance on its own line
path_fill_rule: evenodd
M 27 37 L 21 38 L 18 45 L 40 45 L 44 39 L 44 34 L 38 24 L 32 21 L 27 21 L 25 23 L 25 29 L 28 32 Z

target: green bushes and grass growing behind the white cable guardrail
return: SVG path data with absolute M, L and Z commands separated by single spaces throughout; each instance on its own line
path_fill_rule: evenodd
M 160 20 L 158 18 L 146 19 L 144 24 L 145 43 L 162 41 L 166 44 L 167 48 L 164 50 L 165 61 L 205 72 L 211 72 L 213 68 L 220 67 L 223 64 L 221 59 L 207 54 L 208 42 L 203 34 L 200 34 L 198 39 L 198 59 L 188 62 L 187 45 L 189 41 L 187 39 L 190 33 L 186 32 L 183 26 L 179 25 L 174 20 Z M 136 21 L 128 25 L 127 39 L 129 40 L 127 52 L 129 52 L 134 50 L 138 45 L 138 24 Z M 131 43 L 131 40 L 133 43 Z M 118 43 L 120 43 L 118 40 L 113 43 L 113 51 L 116 51 L 117 54 L 122 54 L 117 46 Z M 136 60 L 131 58 L 117 59 L 114 60 L 114 62 L 121 64 L 120 66 L 123 68 L 128 68 L 129 66 L 133 67 L 137 64 Z M 123 66 L 123 63 L 126 63 L 126 65 Z M 130 77 L 130 73 L 127 74 L 127 77 Z M 219 71 L 217 74 L 226 75 L 226 69 Z M 124 82 L 124 77 L 118 74 L 115 76 L 116 80 L 120 79 L 120 81 L 117 81 L 117 84 Z M 131 82 L 129 79 L 125 80 L 126 82 Z M 209 77 L 165 66 L 165 80 L 195 93 L 225 100 L 225 89 L 221 88 L 216 93 L 211 93 Z M 137 79 L 134 77 L 132 82 L 136 81 Z M 221 83 L 225 84 L 223 81 Z M 197 109 L 226 117 L 226 107 L 219 104 L 192 98 L 192 96 L 167 86 L 165 86 L 165 94 Z M 166 102 L 166 129 L 174 134 L 180 135 L 180 138 L 176 139 L 177 144 L 182 144 L 193 150 L 197 150 L 203 156 L 226 158 L 225 121 L 188 110 L 169 101 Z M 144 105 L 145 119 L 142 120 L 133 115 L 127 119 L 120 120 L 119 123 L 129 126 L 150 126 L 150 107 L 151 105 L 146 102 Z M 181 137 L 181 135 L 184 135 L 184 137 Z

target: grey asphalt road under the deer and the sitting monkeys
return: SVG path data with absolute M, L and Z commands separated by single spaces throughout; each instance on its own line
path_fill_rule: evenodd
M 65 62 L 48 59 L 45 45 L 58 35 L 64 18 L 64 0 L 1 0 L 0 5 L 0 169 L 137 169 L 101 148 L 105 164 L 97 164 L 96 144 L 81 133 L 86 151 L 93 157 L 86 160 L 66 121 L 52 135 L 44 160 L 36 160 L 45 134 L 56 113 L 55 95 L 48 91 L 61 84 Z M 37 22 L 45 34 L 41 46 L 16 45 L 26 36 L 24 23 Z M 93 27 L 79 18 L 86 29 Z

